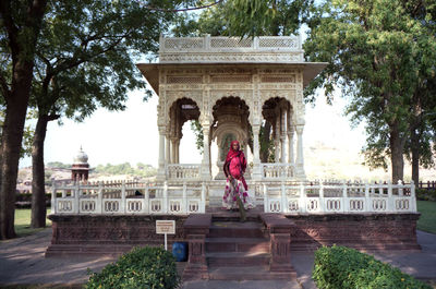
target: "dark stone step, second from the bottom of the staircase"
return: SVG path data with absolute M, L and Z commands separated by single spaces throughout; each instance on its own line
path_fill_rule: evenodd
M 252 252 L 208 252 L 206 253 L 209 266 L 261 266 L 268 265 L 269 253 Z

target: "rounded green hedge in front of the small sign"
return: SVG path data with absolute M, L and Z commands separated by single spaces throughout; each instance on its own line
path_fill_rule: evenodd
M 162 248 L 134 248 L 116 263 L 94 273 L 85 288 L 177 288 L 180 277 L 175 261 Z

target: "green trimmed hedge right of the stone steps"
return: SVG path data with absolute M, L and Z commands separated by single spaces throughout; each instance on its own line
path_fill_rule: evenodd
M 315 252 L 312 278 L 322 289 L 432 289 L 374 256 L 336 245 Z

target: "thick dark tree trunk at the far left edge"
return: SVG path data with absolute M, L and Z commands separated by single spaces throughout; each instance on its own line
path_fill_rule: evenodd
M 47 1 L 0 2 L 0 92 L 5 104 L 1 135 L 0 239 L 15 237 L 14 204 L 34 56 Z

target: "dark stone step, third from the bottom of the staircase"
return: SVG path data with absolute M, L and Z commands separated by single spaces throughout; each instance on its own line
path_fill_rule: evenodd
M 206 252 L 269 253 L 265 238 L 206 238 Z

